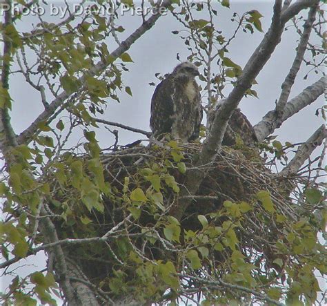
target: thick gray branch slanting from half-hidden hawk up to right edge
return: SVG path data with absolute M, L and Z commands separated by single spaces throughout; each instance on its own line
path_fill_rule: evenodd
M 273 131 L 279 128 L 288 118 L 301 111 L 302 108 L 315 102 L 315 100 L 324 93 L 326 82 L 327 77 L 321 77 L 317 82 L 305 88 L 299 95 L 290 99 L 290 102 L 288 102 L 284 108 L 281 119 L 277 118 L 275 110 L 266 113 L 262 120 L 254 126 L 255 134 L 259 142 L 273 133 Z

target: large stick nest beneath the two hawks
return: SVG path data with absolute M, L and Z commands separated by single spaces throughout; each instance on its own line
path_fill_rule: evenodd
M 186 169 L 195 170 L 195 164 L 199 157 L 201 144 L 184 144 L 180 147 L 183 152 Z M 126 249 L 136 251 L 137 254 L 149 260 L 170 260 L 176 259 L 176 254 L 172 251 L 172 244 L 164 244 L 162 229 L 156 227 L 158 219 L 169 214 L 169 208 L 172 204 L 178 205 L 180 200 L 179 193 L 173 191 L 172 188 L 164 186 L 161 193 L 164 198 L 164 208 L 166 210 L 156 212 L 150 207 L 143 207 L 141 216 L 138 220 L 135 218 L 127 218 L 130 211 L 126 209 L 123 191 L 126 188 L 126 178 L 128 178 L 128 189 L 141 188 L 144 193 L 151 188 L 150 182 L 140 180 L 140 173 L 144 169 L 153 169 L 154 164 L 157 166 L 166 166 L 168 173 L 173 175 L 179 188 L 184 188 L 184 180 L 188 172 L 181 173 L 178 169 L 178 162 L 175 162 L 171 153 L 171 148 L 149 148 L 145 146 L 137 146 L 131 149 L 124 149 L 112 153 L 103 154 L 101 162 L 105 172 L 106 182 L 110 183 L 112 195 L 103 198 L 105 206 L 104 213 L 92 212 L 88 214 L 88 218 L 92 223 L 88 224 L 89 233 L 85 227 L 80 227 L 80 222 L 72 222 L 71 227 L 61 228 L 63 238 L 78 237 L 87 238 L 91 236 L 102 236 L 115 227 L 119 222 L 126 220 L 119 234 L 114 236 L 112 240 L 108 240 L 106 244 L 103 242 L 92 243 L 92 245 L 81 245 L 80 247 L 69 248 L 70 257 L 79 262 L 83 272 L 92 282 L 99 284 L 112 276 L 112 271 L 125 261 L 126 275 L 132 279 L 132 264 L 128 266 Z M 78 157 L 84 161 L 88 160 L 87 156 Z M 155 166 L 156 167 L 156 166 Z M 202 225 L 199 222 L 199 215 L 215 213 L 224 207 L 225 201 L 232 203 L 248 202 L 254 206 L 252 211 L 242 214 L 241 227 L 237 230 L 237 238 L 239 240 L 239 249 L 248 254 L 257 256 L 258 262 L 264 262 L 266 271 L 273 267 L 273 260 L 276 253 L 275 244 L 279 238 L 281 231 L 262 203 L 257 199 L 259 191 L 269 191 L 273 200 L 276 212 L 285 216 L 287 220 L 296 220 L 297 214 L 293 209 L 290 201 L 289 193 L 291 182 L 281 182 L 282 179 L 277 178 L 265 166 L 264 160 L 254 149 L 244 147 L 242 149 L 232 149 L 223 147 L 217 155 L 217 160 L 204 166 L 199 166 L 197 171 L 208 171 L 204 178 L 199 191 L 196 195 L 185 195 L 184 198 L 191 198 L 192 202 L 186 209 L 183 218 L 181 218 L 181 245 L 183 244 L 184 233 L 188 230 L 201 231 Z M 287 183 L 287 184 L 286 184 Z M 58 184 L 54 181 L 54 188 Z M 66 195 L 58 198 L 61 202 L 65 198 L 79 199 L 79 193 L 74 189 L 67 190 Z M 86 213 L 86 209 L 78 206 L 79 213 Z M 76 211 L 76 213 L 77 213 Z M 77 218 L 75 218 L 77 219 Z M 235 217 L 237 219 L 237 216 Z M 219 226 L 226 220 L 226 217 L 211 218 L 208 220 Z M 62 226 L 61 224 L 57 224 Z M 154 244 L 146 242 L 144 236 L 141 235 L 141 229 L 155 229 L 162 241 L 157 240 Z M 80 231 L 80 232 L 79 232 Z M 166 240 L 165 240 L 166 241 Z M 224 262 L 230 256 L 228 251 L 214 251 L 215 260 L 218 263 Z M 119 259 L 120 258 L 120 259 Z M 278 267 L 277 267 L 278 268 Z M 223 274 L 224 271 L 221 271 Z M 106 286 L 105 286 L 106 287 Z M 108 288 L 107 288 L 108 289 Z

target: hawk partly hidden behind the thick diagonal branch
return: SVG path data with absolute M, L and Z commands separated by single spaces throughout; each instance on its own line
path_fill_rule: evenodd
M 225 99 L 221 99 L 215 104 L 215 106 L 210 111 L 208 129 L 210 130 L 210 125 L 217 113 L 218 108 L 224 103 Z M 248 118 L 244 113 L 241 112 L 239 108 L 236 108 L 232 117 L 228 121 L 228 126 L 223 139 L 223 146 L 233 146 L 236 144 L 237 136 L 243 140 L 246 146 L 254 146 L 257 140 L 257 135 L 255 135 L 255 129 L 252 124 L 248 121 Z

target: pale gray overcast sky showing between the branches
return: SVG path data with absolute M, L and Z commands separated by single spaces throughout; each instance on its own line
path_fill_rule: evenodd
M 61 1 L 52 1 L 55 5 L 62 5 Z M 135 2 L 137 3 L 137 2 Z M 232 35 L 236 24 L 230 23 L 230 17 L 233 12 L 242 14 L 248 10 L 259 10 L 264 18 L 261 19 L 264 31 L 268 30 L 270 19 L 273 11 L 272 1 L 231 1 L 230 9 L 222 8 L 217 5 L 218 16 L 215 17 L 215 24 L 219 30 L 223 31 L 226 37 Z M 201 16 L 206 19 L 206 16 Z M 45 19 L 48 19 L 45 16 Z M 58 18 L 50 17 L 51 21 L 56 21 Z M 26 32 L 32 29 L 32 24 L 38 21 L 34 17 L 27 16 L 22 21 L 17 23 L 18 30 Z M 119 21 L 118 21 L 119 22 Z M 137 26 L 141 24 L 141 17 L 131 16 L 130 12 L 121 17 L 121 24 L 126 31 L 123 32 L 121 39 L 127 37 Z M 123 80 L 126 85 L 132 88 L 133 96 L 130 97 L 125 93 L 121 93 L 121 103 L 108 99 L 108 107 L 103 119 L 108 119 L 114 122 L 121 122 L 136 128 L 141 128 L 150 131 L 150 99 L 155 87 L 149 86 L 150 82 L 158 83 L 155 78 L 155 73 L 170 73 L 178 64 L 176 59 L 177 52 L 181 60 L 185 60 L 189 52 L 184 45 L 184 42 L 178 35 L 172 35 L 172 30 L 178 30 L 181 25 L 171 15 L 161 17 L 149 32 L 146 33 L 139 41 L 137 41 L 128 51 L 134 63 L 128 64 L 129 73 L 124 73 Z M 240 66 L 244 66 L 246 61 L 255 50 L 263 33 L 255 31 L 254 35 L 249 33 L 239 32 L 237 39 L 233 41 L 229 48 L 229 57 Z M 252 124 L 259 122 L 261 117 L 275 106 L 275 100 L 280 94 L 280 86 L 284 81 L 290 65 L 295 56 L 295 47 L 297 46 L 298 35 L 294 28 L 286 31 L 282 37 L 281 44 L 277 46 L 273 57 L 268 61 L 264 70 L 257 77 L 257 86 L 253 87 L 257 90 L 259 99 L 254 97 L 244 98 L 240 104 L 241 110 L 248 116 Z M 114 50 L 116 45 L 108 43 L 108 48 Z M 306 86 L 315 82 L 319 77 L 311 73 L 307 80 L 303 77 L 306 74 L 307 68 L 302 69 L 296 79 L 296 84 L 290 94 L 294 97 L 301 92 Z M 10 90 L 14 99 L 12 107 L 12 124 L 16 133 L 20 133 L 24 128 L 39 115 L 42 110 L 39 94 L 31 88 L 22 77 L 14 75 L 12 77 L 13 86 Z M 230 90 L 230 88 L 229 88 Z M 226 90 L 225 95 L 228 95 Z M 313 105 L 307 107 L 297 115 L 293 116 L 288 122 L 275 131 L 278 134 L 278 140 L 281 142 L 301 142 L 306 140 L 315 129 L 322 124 L 321 117 L 315 116 L 315 110 L 324 104 L 324 97 L 319 97 L 319 100 Z M 79 139 L 78 133 L 75 134 L 76 141 Z M 119 143 L 127 144 L 137 139 L 142 139 L 143 136 L 128 131 L 119 130 Z M 108 147 L 112 144 L 113 138 L 103 126 L 100 126 L 97 131 L 97 139 L 100 140 L 102 147 Z M 35 256 L 32 260 L 27 261 L 29 264 L 44 265 L 42 255 Z M 20 269 L 21 276 L 24 276 L 34 268 L 23 267 Z M 3 280 L 3 287 L 6 287 L 8 279 Z

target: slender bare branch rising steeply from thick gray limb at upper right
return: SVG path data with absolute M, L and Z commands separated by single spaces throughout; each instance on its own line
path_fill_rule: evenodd
M 281 84 L 281 89 L 282 89 L 281 95 L 279 97 L 276 106 L 276 112 L 279 117 L 283 116 L 284 108 L 286 106 L 288 97 L 290 95 L 290 90 L 295 82 L 295 77 L 297 76 L 297 73 L 299 72 L 299 68 L 302 64 L 304 58 L 304 52 L 306 52 L 306 46 L 310 38 L 310 32 L 313 28 L 313 23 L 315 22 L 316 13 L 317 13 L 317 6 L 313 6 L 312 8 L 310 8 L 308 19 L 306 19 L 306 22 L 304 23 L 304 32 L 299 41 L 299 46 L 297 47 L 297 54 L 295 56 L 295 59 L 293 61 L 292 67 L 290 68 L 288 75 L 286 76 L 283 84 Z

